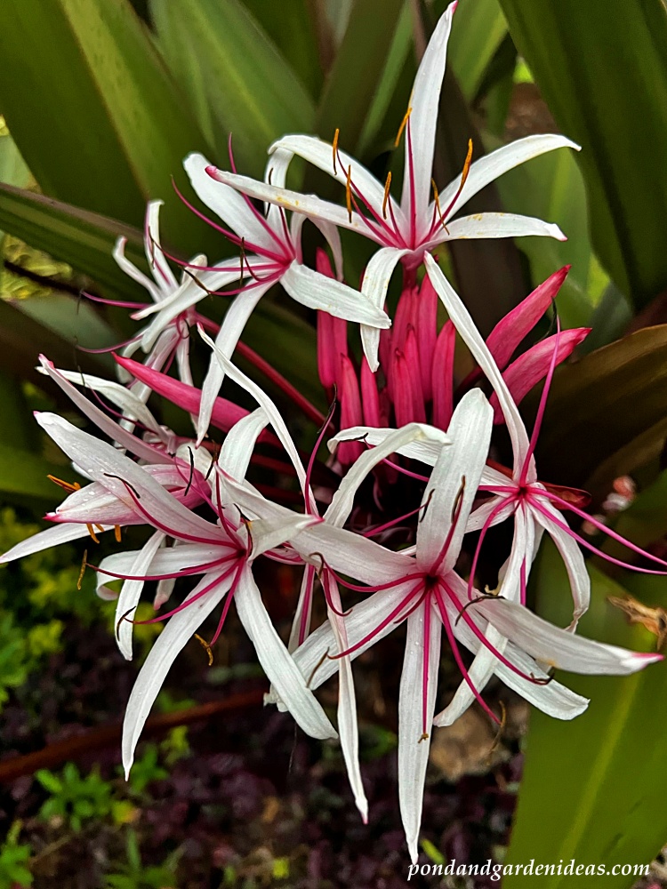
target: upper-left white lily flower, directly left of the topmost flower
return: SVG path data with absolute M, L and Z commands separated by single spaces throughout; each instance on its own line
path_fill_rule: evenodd
M 267 179 L 278 185 L 284 184 L 291 157 L 289 152 L 280 151 L 272 155 L 267 168 Z M 377 308 L 372 300 L 360 296 L 358 291 L 342 284 L 342 281 L 325 277 L 303 264 L 301 228 L 305 217 L 299 212 L 293 212 L 289 225 L 282 207 L 270 206 L 265 217 L 248 197 L 239 195 L 234 188 L 218 181 L 215 167 L 204 156 L 189 155 L 184 165 L 197 196 L 231 230 L 213 222 L 211 224 L 234 244 L 240 245 L 243 251 L 240 260 L 242 273 L 253 279 L 237 288 L 236 298 L 229 306 L 216 337 L 215 344 L 224 356 L 231 356 L 253 309 L 264 293 L 278 283 L 293 300 L 308 308 L 317 308 L 330 315 L 371 325 L 373 328 L 390 326 L 389 316 L 382 308 Z M 318 221 L 318 225 L 331 244 L 333 256 L 340 266 L 341 247 L 336 228 L 326 221 Z M 173 311 L 177 305 L 180 302 L 174 299 L 170 310 Z M 221 365 L 212 356 L 202 388 L 198 442 L 205 436 L 211 419 L 213 399 L 218 394 L 223 379 Z

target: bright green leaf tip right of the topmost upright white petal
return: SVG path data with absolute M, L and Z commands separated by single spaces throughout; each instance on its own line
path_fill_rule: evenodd
M 506 34 L 507 22 L 498 0 L 475 0 L 457 8 L 447 60 L 468 101 L 475 98 L 486 68 Z

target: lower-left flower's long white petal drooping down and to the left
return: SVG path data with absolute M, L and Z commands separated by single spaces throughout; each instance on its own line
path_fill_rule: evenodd
M 185 601 L 197 596 L 201 589 L 210 584 L 212 578 L 205 575 L 193 589 Z M 123 723 L 123 766 L 125 779 L 133 765 L 134 749 L 137 746 L 141 730 L 149 716 L 153 702 L 162 687 L 165 677 L 172 667 L 173 661 L 181 653 L 181 649 L 197 632 L 199 625 L 218 605 L 231 586 L 231 578 L 221 581 L 205 596 L 200 596 L 186 608 L 173 615 L 165 629 L 157 637 L 156 642 L 144 661 L 139 676 L 134 683 L 130 700 L 125 709 Z

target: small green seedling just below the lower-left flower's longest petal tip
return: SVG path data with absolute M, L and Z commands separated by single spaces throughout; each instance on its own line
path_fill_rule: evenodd
M 82 777 L 74 763 L 67 763 L 60 775 L 40 769 L 35 777 L 51 794 L 39 810 L 40 817 L 61 818 L 73 830 L 80 830 L 84 821 L 113 815 L 117 805 L 125 805 L 114 801 L 111 784 L 97 769 Z

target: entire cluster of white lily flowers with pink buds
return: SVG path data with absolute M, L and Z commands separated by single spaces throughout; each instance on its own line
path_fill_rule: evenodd
M 128 702 L 125 769 L 132 766 L 142 726 L 181 649 L 216 613 L 217 629 L 204 643 L 211 654 L 233 603 L 271 683 L 267 701 L 289 711 L 312 737 L 340 735 L 350 785 L 365 820 L 352 661 L 405 623 L 398 774 L 413 861 L 432 726 L 451 725 L 475 701 L 500 722 L 484 697 L 494 675 L 550 716 L 571 719 L 588 701 L 555 680 L 553 669 L 629 674 L 660 659 L 575 632 L 590 597 L 581 547 L 602 554 L 569 525 L 564 513 L 619 538 L 584 512 L 585 493 L 540 481 L 534 450 L 554 369 L 588 331 L 561 331 L 556 321 L 555 332 L 515 357 L 550 312 L 567 268 L 529 294 L 485 340 L 433 252 L 460 237 L 562 238 L 559 228 L 541 220 L 500 213 L 466 217 L 459 211 L 479 189 L 517 164 L 556 148 L 577 148 L 564 137 L 540 135 L 474 163 L 470 150 L 461 175 L 438 191 L 431 168 L 455 5 L 438 22 L 400 127 L 405 143 L 400 201 L 391 194 L 391 173 L 385 183 L 375 180 L 339 148 L 338 132 L 333 144 L 307 135 L 277 141 L 269 148 L 262 182 L 239 175 L 233 159 L 231 172 L 223 172 L 202 156 L 186 158 L 197 196 L 221 220 L 207 221 L 237 245 L 237 258 L 209 266 L 204 256 L 197 256 L 181 263 L 179 282 L 170 265 L 173 258 L 160 243 L 159 202 L 149 204 L 146 218 L 153 278 L 125 258 L 122 241 L 117 244 L 118 264 L 150 297 L 140 308 L 132 304 L 133 318 L 146 320 L 146 325 L 116 356 L 118 381 L 62 371 L 40 358 L 41 371 L 108 441 L 55 414 L 36 415 L 87 484 L 57 480 L 68 496 L 47 515 L 52 527 L 2 557 L 10 561 L 88 534 L 97 540 L 98 533 L 111 529 L 120 544 L 122 529 L 148 528 L 149 539 L 141 549 L 120 548 L 95 566 L 100 596 L 117 599 L 118 645 L 126 658 L 132 657 L 133 618 L 145 584 L 157 584 L 157 610 L 174 600 L 155 618 L 168 622 Z M 295 155 L 339 181 L 344 202 L 333 204 L 285 188 Z M 264 202 L 262 208 L 256 200 Z M 317 268 L 304 263 L 305 220 L 313 221 L 325 237 L 333 266 L 324 250 L 317 253 Z M 342 281 L 339 228 L 379 245 L 359 290 Z M 403 286 L 390 317 L 387 291 L 398 266 Z M 240 339 L 253 309 L 274 284 L 317 309 L 319 375 L 333 401 L 326 418 Z M 199 310 L 211 292 L 233 297 L 221 326 Z M 448 320 L 438 329 L 440 307 Z M 360 325 L 359 359 L 349 322 Z M 210 350 L 201 388 L 194 385 L 189 365 L 195 327 Z M 471 370 L 460 380 L 454 357 L 464 347 Z M 309 459 L 302 458 L 277 405 L 232 362 L 235 352 L 268 375 L 321 427 Z M 141 354 L 143 361 L 136 360 Z M 169 373 L 173 358 L 178 376 Z M 253 411 L 220 396 L 225 378 L 245 390 L 256 404 Z M 517 405 L 541 380 L 542 398 L 529 433 Z M 94 399 L 77 386 L 92 392 Z M 189 412 L 192 436 L 177 436 L 157 422 L 148 407 L 153 392 Z M 494 427 L 509 436 L 510 467 L 494 460 Z M 221 446 L 213 442 L 216 429 L 224 435 Z M 327 435 L 331 454 L 322 461 L 320 445 Z M 261 476 L 253 481 L 262 467 L 288 478 L 281 487 L 263 484 Z M 294 500 L 298 508 L 293 508 Z M 506 522 L 513 533 L 503 564 L 496 565 L 497 586 L 480 591 L 478 563 L 486 535 Z M 543 621 L 526 601 L 545 532 L 567 566 L 573 599 L 567 629 Z M 642 570 L 667 573 L 662 560 L 623 542 L 653 560 L 653 568 Z M 287 645 L 254 580 L 258 559 L 301 570 L 301 594 Z M 108 586 L 117 579 L 123 581 L 119 593 Z M 177 581 L 186 584 L 182 597 Z M 313 631 L 313 599 L 319 589 L 327 620 Z M 436 713 L 443 634 L 462 680 L 445 709 Z M 314 694 L 333 676 L 339 680 L 337 732 Z

